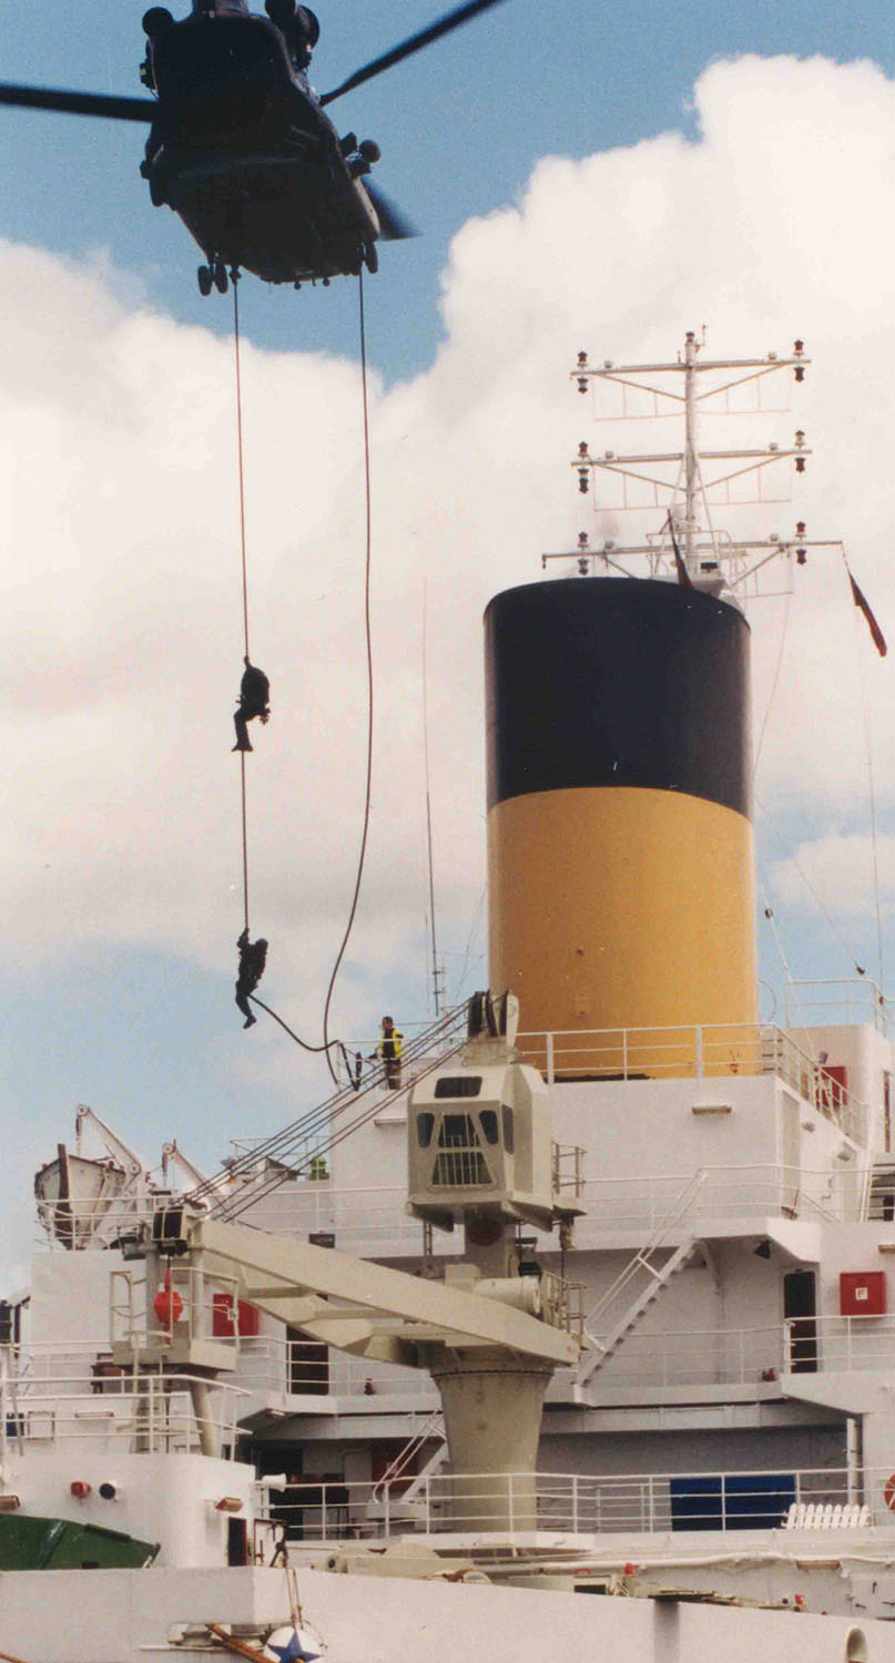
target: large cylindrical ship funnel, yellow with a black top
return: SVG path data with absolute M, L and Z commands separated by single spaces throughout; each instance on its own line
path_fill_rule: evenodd
M 489 981 L 519 998 L 522 1054 L 544 1066 L 526 1036 L 551 1033 L 566 1078 L 690 1073 L 692 1038 L 669 1031 L 699 1024 L 704 1071 L 739 1071 L 755 1021 L 740 609 L 576 577 L 496 595 L 484 627 Z

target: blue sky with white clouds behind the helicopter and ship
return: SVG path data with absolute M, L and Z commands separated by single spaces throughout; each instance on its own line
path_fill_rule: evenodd
M 433 15 L 418 0 L 319 12 L 321 90 Z M 120 3 L 2 0 L 8 80 L 126 93 L 140 57 L 140 13 Z M 333 1008 L 344 1038 L 371 1041 L 386 1009 L 406 1029 L 431 1009 L 424 637 L 448 993 L 486 980 L 481 614 L 536 580 L 544 550 L 597 534 L 569 461 L 579 439 L 617 434 L 569 381 L 579 349 L 667 359 L 705 328 L 705 351 L 752 356 L 804 338 L 805 386 L 757 442 L 804 427 L 807 472 L 792 502 L 729 524 L 792 535 L 804 519 L 843 539 L 895 634 L 893 57 L 882 7 L 507 0 L 334 106 L 381 143 L 379 180 L 423 233 L 366 284 L 376 717 Z M 200 298 L 186 231 L 150 206 L 136 128 L 7 111 L 0 145 L 12 1277 L 33 1169 L 72 1139 L 77 1103 L 150 1164 L 176 1136 L 215 1171 L 230 1139 L 274 1131 L 328 1083 L 233 1008 L 230 301 Z M 260 991 L 318 1041 L 364 797 L 358 293 L 246 279 L 241 309 L 251 649 L 273 687 L 248 758 L 251 925 L 271 943 Z M 647 529 L 655 516 L 612 519 L 614 535 Z M 882 941 L 885 980 L 895 905 L 893 659 L 873 652 L 835 552 L 795 575 L 790 600 L 750 614 L 769 1019 L 785 966 L 877 975 Z

